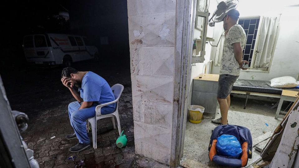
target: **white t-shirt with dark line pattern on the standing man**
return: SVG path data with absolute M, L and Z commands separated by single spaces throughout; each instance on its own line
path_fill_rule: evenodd
M 241 68 L 238 61 L 235 58 L 234 47 L 232 46 L 232 44 L 234 43 L 240 43 L 242 49 L 244 49 L 244 46 L 246 44 L 245 31 L 242 28 L 242 26 L 238 24 L 232 26 L 225 36 L 220 65 L 220 75 L 240 75 Z

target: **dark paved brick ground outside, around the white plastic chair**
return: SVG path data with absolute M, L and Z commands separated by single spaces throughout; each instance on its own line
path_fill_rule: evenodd
M 117 129 L 112 128 L 111 119 L 98 121 L 97 149 L 92 147 L 78 153 L 69 152 L 69 147 L 78 140 L 65 140 L 73 133 L 69 124 L 67 107 L 74 98 L 60 82 L 61 68 L 26 68 L 2 75 L 13 110 L 28 114 L 29 126 L 22 137 L 40 167 L 167 167 L 146 157 L 135 155 L 134 125 L 132 115 L 132 91 L 129 67 L 114 66 L 87 61 L 76 65 L 78 70 L 89 70 L 104 77 L 112 86 L 125 86 L 119 100 L 121 128 L 127 135 L 125 148 L 116 147 Z M 13 78 L 11 76 L 14 76 Z M 55 138 L 50 139 L 55 136 Z M 91 138 L 91 133 L 89 137 Z M 74 159 L 68 159 L 73 156 Z M 78 166 L 83 161 L 81 166 Z

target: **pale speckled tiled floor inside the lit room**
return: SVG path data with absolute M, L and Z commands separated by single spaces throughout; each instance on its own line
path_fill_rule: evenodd
M 272 132 L 281 119 L 274 119 L 276 108 L 270 109 L 264 105 L 249 100 L 247 108 L 243 109 L 244 99 L 232 98 L 229 109 L 229 123 L 248 128 L 252 139 L 259 137 L 263 131 Z M 217 109 L 216 118 L 220 117 Z M 268 126 L 266 124 L 268 124 Z M 184 154 L 181 165 L 185 167 L 219 167 L 209 161 L 208 146 L 211 131 L 216 127 L 210 119 L 204 119 L 199 124 L 187 121 Z M 254 158 L 254 157 L 253 157 Z M 200 166 L 201 165 L 201 166 Z

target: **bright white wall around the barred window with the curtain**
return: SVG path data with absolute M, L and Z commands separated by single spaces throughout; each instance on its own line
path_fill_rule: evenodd
M 297 77 L 299 72 L 299 68 L 297 68 L 299 62 L 299 7 L 286 7 L 296 4 L 299 4 L 299 2 L 295 0 L 251 0 L 239 2 L 237 10 L 240 12 L 240 17 L 257 15 L 278 16 L 282 14 L 277 44 L 269 73 L 242 71 L 239 79 L 270 80 L 281 76 Z M 214 32 L 214 35 L 216 34 L 217 32 Z M 218 39 L 219 37 L 213 38 Z M 212 49 L 212 60 L 215 58 L 215 52 L 216 49 Z M 219 74 L 219 67 L 214 66 L 212 72 Z

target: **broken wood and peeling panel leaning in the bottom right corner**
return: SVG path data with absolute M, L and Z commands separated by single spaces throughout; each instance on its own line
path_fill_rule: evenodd
M 297 157 L 299 126 L 294 124 L 299 118 L 298 105 L 299 97 L 276 127 L 265 147 L 263 147 L 260 155 L 263 162 L 252 165 L 254 168 L 264 167 L 269 165 L 269 163 L 270 167 L 299 167 Z

